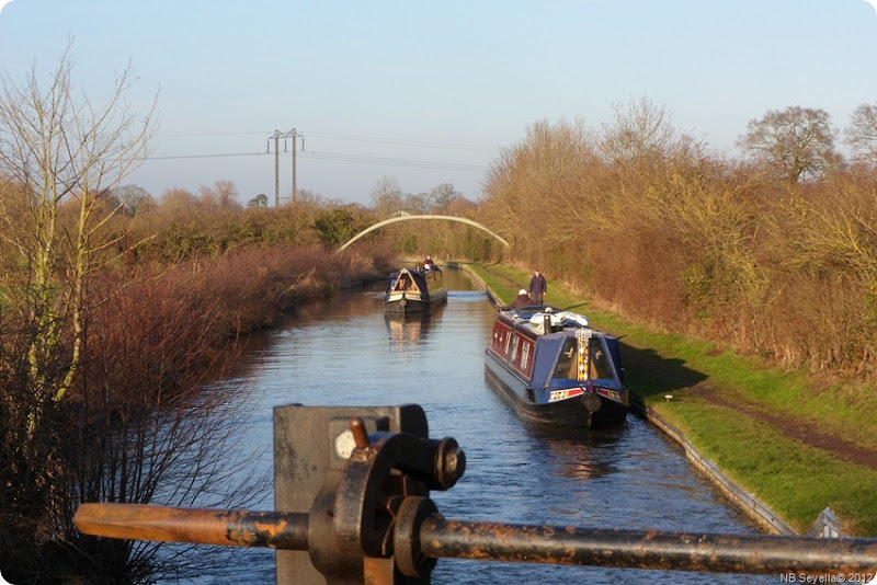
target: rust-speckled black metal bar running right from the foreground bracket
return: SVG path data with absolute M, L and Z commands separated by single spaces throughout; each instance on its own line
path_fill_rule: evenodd
M 709 571 L 853 573 L 877 566 L 877 540 L 697 535 L 446 520 L 420 527 L 431 558 L 522 563 Z

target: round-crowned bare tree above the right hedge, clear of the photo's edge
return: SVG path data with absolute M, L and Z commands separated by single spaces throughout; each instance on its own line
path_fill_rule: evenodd
M 839 163 L 834 135 L 828 112 L 795 105 L 750 121 L 738 146 L 776 176 L 798 182 Z

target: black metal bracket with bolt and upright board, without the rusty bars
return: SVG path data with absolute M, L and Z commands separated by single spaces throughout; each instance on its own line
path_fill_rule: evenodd
M 275 506 L 309 513 L 309 552 L 277 552 L 278 585 L 429 583 L 435 561 L 415 563 L 418 551 L 397 569 L 400 509 L 411 496 L 434 509 L 430 490 L 453 486 L 466 456 L 453 438 L 428 436 L 418 405 L 275 409 Z

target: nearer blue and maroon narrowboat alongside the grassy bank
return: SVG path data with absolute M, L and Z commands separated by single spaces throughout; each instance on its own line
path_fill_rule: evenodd
M 521 416 L 562 426 L 624 421 L 629 408 L 617 337 L 556 307 L 499 310 L 485 371 Z

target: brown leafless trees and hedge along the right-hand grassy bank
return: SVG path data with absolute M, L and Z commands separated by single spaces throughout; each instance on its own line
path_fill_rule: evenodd
M 851 157 L 838 150 L 843 140 Z M 636 319 L 789 367 L 877 372 L 877 104 L 753 119 L 730 158 L 647 100 L 539 122 L 491 164 L 480 217 Z

